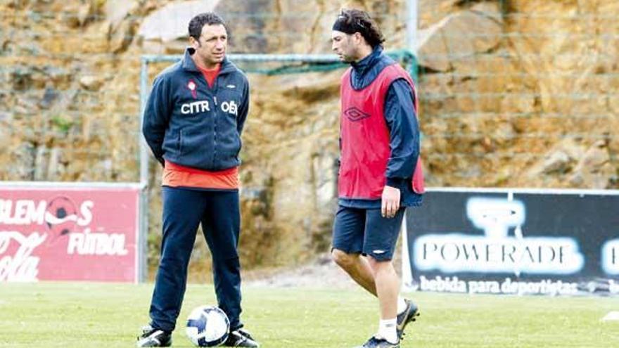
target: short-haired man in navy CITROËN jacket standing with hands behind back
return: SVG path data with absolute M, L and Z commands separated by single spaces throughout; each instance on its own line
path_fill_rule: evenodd
M 227 31 L 215 13 L 189 22 L 184 58 L 155 79 L 143 135 L 163 166 L 163 236 L 151 323 L 138 347 L 168 347 L 183 302 L 187 266 L 201 224 L 212 254 L 217 301 L 229 317 L 228 347 L 258 347 L 243 330 L 238 262 L 238 152 L 249 85 L 226 59 Z

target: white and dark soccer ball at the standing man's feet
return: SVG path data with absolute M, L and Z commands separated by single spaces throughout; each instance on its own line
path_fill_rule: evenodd
M 218 346 L 226 341 L 229 332 L 230 321 L 219 307 L 197 307 L 187 318 L 187 336 L 198 347 Z

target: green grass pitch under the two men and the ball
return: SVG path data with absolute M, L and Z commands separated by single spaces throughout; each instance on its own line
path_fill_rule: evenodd
M 135 347 L 152 284 L 0 283 L 0 347 Z M 619 347 L 619 298 L 408 294 L 421 317 L 402 348 Z M 189 311 L 215 304 L 211 285 L 189 285 L 173 347 Z M 243 321 L 264 348 L 346 348 L 376 330 L 376 301 L 362 290 L 243 288 Z

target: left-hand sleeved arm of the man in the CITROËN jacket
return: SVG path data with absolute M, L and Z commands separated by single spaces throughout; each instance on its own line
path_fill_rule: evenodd
M 164 165 L 163 160 L 163 138 L 167 123 L 170 122 L 170 88 L 169 82 L 165 79 L 157 78 L 153 84 L 151 95 L 148 96 L 146 109 L 144 110 L 144 122 L 142 134 L 148 143 L 148 147 L 153 151 L 155 158 Z

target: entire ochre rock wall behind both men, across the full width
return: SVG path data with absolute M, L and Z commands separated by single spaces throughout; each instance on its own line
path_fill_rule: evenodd
M 234 53 L 328 53 L 342 6 L 402 47 L 406 1 L 0 1 L 1 180 L 138 181 L 144 53 L 177 54 L 214 9 Z M 419 1 L 423 160 L 430 186 L 618 187 L 619 4 Z M 153 64 L 154 77 L 165 65 Z M 253 86 L 243 167 L 247 268 L 328 249 L 341 70 Z M 151 166 L 151 259 L 160 169 Z M 200 239 L 200 238 L 198 238 Z M 203 243 L 194 259 L 208 254 Z M 205 266 L 193 264 L 194 269 Z

